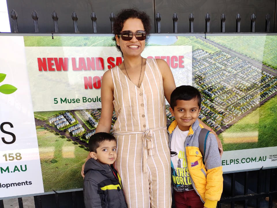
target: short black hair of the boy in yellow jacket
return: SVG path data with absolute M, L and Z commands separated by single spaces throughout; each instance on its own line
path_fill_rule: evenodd
M 182 85 L 177 87 L 173 92 L 171 93 L 170 96 L 170 106 L 174 110 L 174 107 L 176 106 L 176 101 L 177 100 L 191 100 L 193 98 L 196 98 L 198 101 L 198 106 L 199 108 L 201 107 L 201 94 L 200 92 L 190 86 L 190 85 Z

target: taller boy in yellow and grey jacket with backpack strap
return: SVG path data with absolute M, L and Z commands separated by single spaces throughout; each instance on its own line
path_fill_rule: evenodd
M 180 86 L 170 104 L 175 116 L 168 128 L 175 206 L 215 208 L 223 188 L 222 166 L 214 134 L 207 136 L 204 159 L 199 149 L 201 94 L 192 86 Z

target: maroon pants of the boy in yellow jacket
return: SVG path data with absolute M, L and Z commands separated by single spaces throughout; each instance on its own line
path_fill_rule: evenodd
M 174 200 L 176 208 L 203 208 L 204 203 L 200 196 L 194 191 L 176 192 L 174 191 Z

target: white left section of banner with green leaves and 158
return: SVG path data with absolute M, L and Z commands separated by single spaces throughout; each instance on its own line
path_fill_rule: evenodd
M 44 192 L 23 37 L 0 36 L 0 197 Z M 16 56 L 14 50 L 16 48 Z

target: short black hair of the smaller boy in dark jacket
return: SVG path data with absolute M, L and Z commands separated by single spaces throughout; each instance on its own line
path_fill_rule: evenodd
M 108 140 L 115 141 L 116 139 L 113 135 L 106 132 L 95 133 L 89 138 L 89 151 L 97 153 L 96 149 L 100 146 L 101 142 Z

